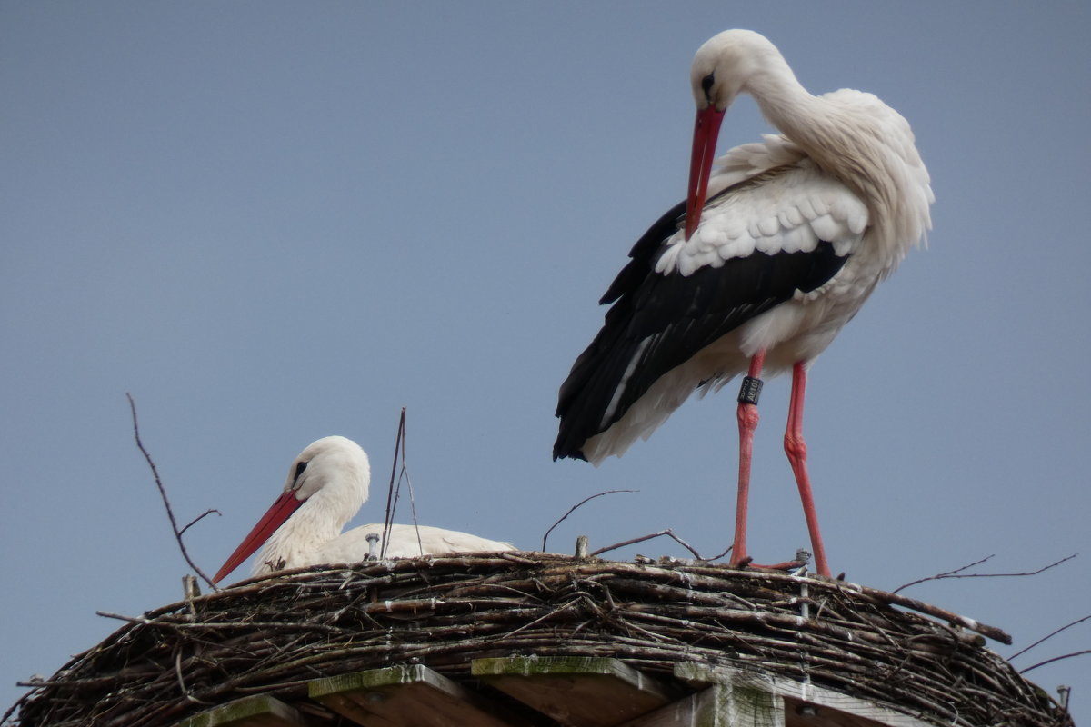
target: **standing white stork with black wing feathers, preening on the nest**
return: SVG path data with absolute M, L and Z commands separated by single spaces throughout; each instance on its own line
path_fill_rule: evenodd
M 561 386 L 553 458 L 621 456 L 694 389 L 746 374 L 732 553 L 744 562 L 759 376 L 791 369 L 784 450 L 829 575 L 806 470 L 806 371 L 931 227 L 928 172 L 898 112 L 859 90 L 812 96 L 752 31 L 705 43 L 691 81 L 686 202 L 637 241 L 602 296 L 613 303 L 602 330 Z M 712 171 L 720 122 L 742 93 L 781 133 L 731 149 Z

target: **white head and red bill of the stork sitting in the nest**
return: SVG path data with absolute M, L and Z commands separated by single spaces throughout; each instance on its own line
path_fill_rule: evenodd
M 360 445 L 345 437 L 311 443 L 288 468 L 280 497 L 224 562 L 213 583 L 238 568 L 307 501 L 317 506 L 314 517 L 325 520 L 321 528 L 340 532 L 368 499 L 370 481 L 371 465 Z

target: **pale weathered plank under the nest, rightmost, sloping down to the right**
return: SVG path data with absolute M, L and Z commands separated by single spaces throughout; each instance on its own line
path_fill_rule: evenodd
M 779 696 L 786 727 L 934 727 L 877 702 L 766 673 L 686 662 L 674 666 L 674 676 L 695 687 L 732 684 Z

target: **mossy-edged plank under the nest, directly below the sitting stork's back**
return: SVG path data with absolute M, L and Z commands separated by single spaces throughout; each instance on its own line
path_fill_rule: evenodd
M 480 694 L 420 664 L 308 682 L 311 699 L 364 727 L 520 724 Z

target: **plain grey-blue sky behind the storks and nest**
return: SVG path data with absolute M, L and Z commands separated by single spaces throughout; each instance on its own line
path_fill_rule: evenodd
M 95 610 L 181 596 L 127 391 L 178 517 L 223 512 L 187 535 L 208 571 L 321 436 L 370 452 L 377 519 L 401 407 L 422 522 L 532 549 L 634 488 L 551 549 L 726 547 L 730 393 L 598 469 L 550 450 L 596 301 L 684 194 L 690 61 L 728 27 L 898 109 L 937 196 L 928 250 L 812 368 L 831 567 L 894 589 L 1082 552 L 909 594 L 1007 629 L 1005 655 L 1091 614 L 1091 5 L 4 2 L 0 706 L 120 626 Z M 720 146 L 768 130 L 742 99 Z M 767 560 L 806 545 L 787 388 L 756 445 Z M 1091 621 L 1016 666 L 1083 649 Z M 1028 676 L 1091 717 L 1091 656 Z

